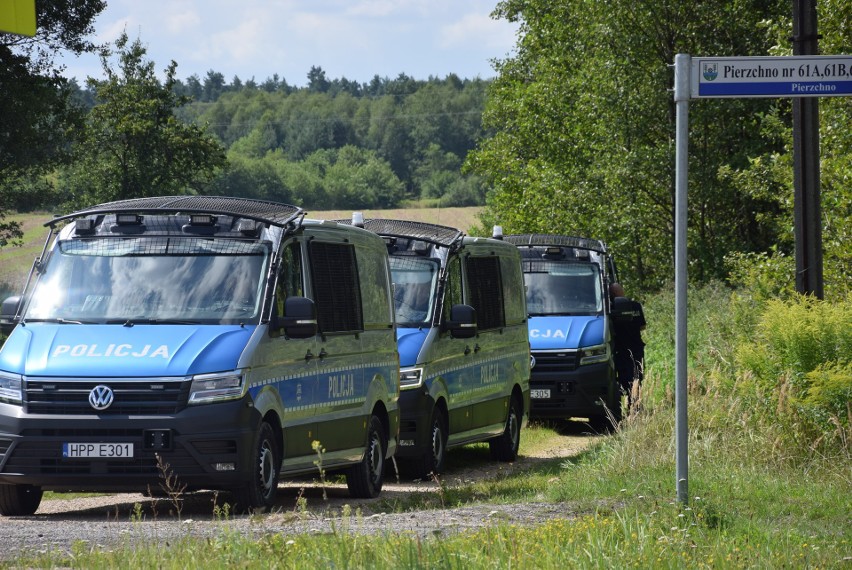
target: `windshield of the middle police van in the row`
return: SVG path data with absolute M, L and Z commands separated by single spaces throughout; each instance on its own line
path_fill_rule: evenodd
M 440 264 L 435 259 L 391 256 L 394 309 L 398 323 L 431 322 Z

